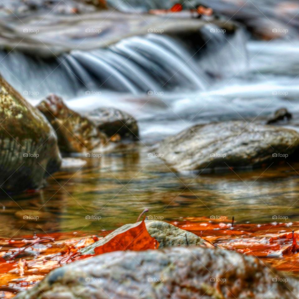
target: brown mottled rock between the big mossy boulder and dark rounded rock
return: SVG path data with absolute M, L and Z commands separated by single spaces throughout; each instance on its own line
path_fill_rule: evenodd
M 62 152 L 87 152 L 107 142 L 105 134 L 98 131 L 87 118 L 69 109 L 61 97 L 51 94 L 40 102 L 37 108 L 56 131 Z

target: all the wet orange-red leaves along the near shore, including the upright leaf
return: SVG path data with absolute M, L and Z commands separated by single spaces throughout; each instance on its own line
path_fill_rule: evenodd
M 217 247 L 263 258 L 279 270 L 299 275 L 299 222 L 238 224 L 223 219 L 184 218 L 171 223 L 201 236 Z M 92 255 L 82 255 L 78 250 L 93 244 L 107 233 L 100 236 L 53 233 L 13 240 L 0 239 L 0 298 L 12 298 L 17 292 L 42 280 L 51 270 L 78 259 L 89 258 Z M 116 250 L 157 248 L 159 243 L 149 235 L 142 221 L 96 247 L 94 255 Z

